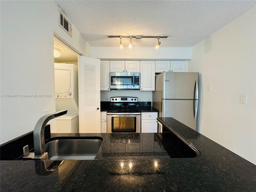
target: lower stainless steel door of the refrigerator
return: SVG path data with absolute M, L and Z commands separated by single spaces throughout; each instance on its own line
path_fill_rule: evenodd
M 197 108 L 198 100 L 163 99 L 162 117 L 172 117 L 196 131 Z

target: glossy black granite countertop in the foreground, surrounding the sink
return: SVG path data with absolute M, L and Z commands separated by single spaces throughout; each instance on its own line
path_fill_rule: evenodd
M 256 191 L 254 164 L 173 118 L 158 120 L 167 132 L 51 134 L 102 137 L 97 160 L 0 161 L 0 190 Z M 176 131 L 201 155 L 182 158 L 170 141 Z

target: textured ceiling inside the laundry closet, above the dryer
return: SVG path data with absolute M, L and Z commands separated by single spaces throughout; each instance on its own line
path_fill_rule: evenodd
M 55 48 L 60 50 L 59 53 L 61 54 L 60 57 L 54 58 L 54 63 L 77 62 L 77 53 L 71 51 L 69 48 L 67 48 L 55 38 L 53 39 L 53 45 Z

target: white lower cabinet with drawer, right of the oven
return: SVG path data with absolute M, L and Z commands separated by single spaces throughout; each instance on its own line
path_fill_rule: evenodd
M 141 113 L 141 133 L 157 133 L 157 112 Z

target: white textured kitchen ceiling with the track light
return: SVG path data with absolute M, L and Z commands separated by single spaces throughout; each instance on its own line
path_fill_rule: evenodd
M 55 1 L 91 46 L 117 47 L 107 35 L 169 35 L 161 47 L 192 47 L 256 1 Z M 127 47 L 129 38 L 122 39 Z M 133 39 L 154 47 L 157 39 Z

